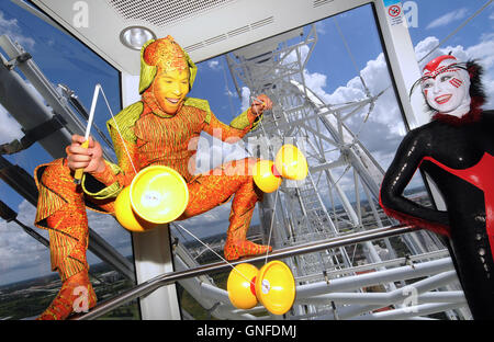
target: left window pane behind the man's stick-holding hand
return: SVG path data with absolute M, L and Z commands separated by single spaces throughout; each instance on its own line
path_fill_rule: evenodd
M 5 1 L 0 9 L 0 35 L 8 35 L 30 53 L 54 88 L 67 86 L 80 100 L 89 113 L 94 87 L 100 83 L 109 100 L 113 113 L 121 107 L 120 75 L 116 69 L 92 53 L 74 37 L 59 32 L 35 15 L 24 11 L 11 1 Z M 0 53 L 5 57 L 2 49 Z M 21 78 L 25 76 L 14 69 Z M 46 101 L 27 80 L 27 87 L 35 96 L 46 104 Z M 74 110 L 74 109 L 72 109 Z M 75 113 L 77 111 L 74 110 Z M 98 129 L 109 139 L 105 122 L 110 113 L 101 94 L 94 116 L 93 135 L 108 150 L 111 158 L 113 151 L 105 146 Z M 0 144 L 7 144 L 23 136 L 21 125 L 11 113 L 0 106 Z M 86 119 L 81 118 L 83 125 Z M 22 168 L 30 181 L 34 169 L 53 160 L 40 144 L 14 155 L 2 156 L 4 162 Z M 5 161 L 7 160 L 7 161 Z M 3 178 L 2 178 L 3 179 Z M 0 319 L 34 318 L 40 315 L 57 294 L 60 282 L 58 275 L 50 271 L 49 250 L 36 239 L 29 236 L 20 225 L 33 229 L 35 233 L 48 239 L 47 231 L 34 227 L 35 207 L 19 195 L 5 181 L 0 181 L 1 201 L 18 213 L 18 223 L 0 219 Z M 110 215 L 88 210 L 89 225 L 98 235 L 110 243 L 119 253 L 133 262 L 132 241 L 130 233 L 116 224 Z M 133 283 L 102 262 L 88 251 L 90 278 L 99 300 L 108 299 L 117 293 L 130 288 Z M 109 312 L 105 317 L 112 319 L 138 319 L 136 301 Z M 102 317 L 104 319 L 105 317 Z

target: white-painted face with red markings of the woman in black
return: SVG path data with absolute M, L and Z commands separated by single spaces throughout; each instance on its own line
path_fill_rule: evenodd
M 427 70 L 422 89 L 427 103 L 442 114 L 462 117 L 470 112 L 470 77 L 461 68 L 446 68 L 456 60 L 445 59 L 435 70 Z

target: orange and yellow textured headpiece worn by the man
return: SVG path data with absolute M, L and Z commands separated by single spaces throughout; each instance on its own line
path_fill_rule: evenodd
M 189 70 L 189 84 L 192 84 L 198 67 L 189 55 L 168 35 L 160 39 L 150 39 L 141 48 L 139 94 L 153 83 L 158 70 Z

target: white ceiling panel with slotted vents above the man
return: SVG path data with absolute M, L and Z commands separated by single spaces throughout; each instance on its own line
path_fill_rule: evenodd
M 144 26 L 171 35 L 201 61 L 369 0 L 32 0 L 120 71 L 138 75 L 138 50 L 120 41 Z

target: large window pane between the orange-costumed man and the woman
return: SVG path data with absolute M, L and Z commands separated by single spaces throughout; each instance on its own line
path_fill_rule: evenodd
M 273 46 L 273 42 L 277 43 L 274 49 L 262 49 L 262 45 Z M 301 192 L 297 195 L 290 192 L 295 185 L 288 183 L 279 198 L 274 193 L 265 195 L 276 203 L 277 215 L 272 219 L 266 209 L 261 215 L 261 205 L 258 205 L 248 237 L 252 240 L 258 237 L 258 243 L 270 241 L 277 249 L 362 228 L 393 225 L 380 208 L 377 194 L 383 172 L 406 134 L 406 126 L 372 7 L 362 5 L 255 45 L 258 55 L 249 55 L 247 46 L 200 62 L 190 93 L 207 99 L 212 111 L 224 123 L 246 110 L 252 96 L 261 92 L 274 102 L 271 113 L 265 114 L 262 127 L 237 146 L 203 134 L 197 161 L 201 171 L 227 160 L 258 157 L 249 144 L 263 138 L 268 138 L 273 148 L 280 137 L 292 138 L 291 141 L 300 144 L 307 157 L 311 180 L 304 185 L 299 184 Z M 290 124 L 293 122 L 296 124 Z M 273 155 L 267 153 L 266 149 L 260 157 L 272 159 Z M 326 168 L 327 164 L 330 167 Z M 418 172 L 408 185 L 407 194 L 428 204 L 428 194 Z M 304 203 L 303 209 L 300 202 Z M 184 229 L 172 228 L 173 236 L 184 243 L 197 263 L 216 262 L 223 256 L 229 210 L 231 203 L 181 221 Z M 391 242 L 378 241 L 373 251 L 374 256 L 379 255 L 375 258 L 385 260 L 403 256 L 412 248 L 395 238 Z M 370 258 L 369 250 L 357 244 L 284 261 L 301 281 L 297 284 L 303 284 L 303 280 L 324 280 L 326 271 L 368 263 Z M 209 282 L 226 289 L 228 274 L 211 275 Z M 190 310 L 188 312 L 194 318 L 209 317 L 203 309 L 189 304 L 190 297 L 194 296 L 193 289 L 190 294 L 187 290 L 180 290 L 180 294 L 182 309 Z M 195 298 L 203 308 L 210 308 L 207 290 Z M 210 314 L 220 318 L 218 311 Z M 294 308 L 289 315 L 297 317 L 303 311 L 303 308 Z M 266 316 L 267 311 L 260 308 L 245 315 Z

